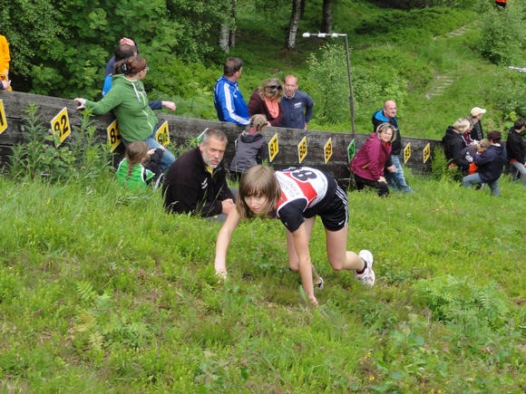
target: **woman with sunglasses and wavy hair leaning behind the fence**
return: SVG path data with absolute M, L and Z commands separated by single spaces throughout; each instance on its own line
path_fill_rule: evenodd
M 256 114 L 265 115 L 268 126 L 279 126 L 283 119 L 281 98 L 283 97 L 283 86 L 278 78 L 268 78 L 256 89 L 250 101 L 248 101 L 248 114 L 252 117 Z

